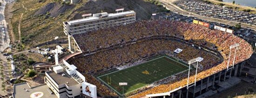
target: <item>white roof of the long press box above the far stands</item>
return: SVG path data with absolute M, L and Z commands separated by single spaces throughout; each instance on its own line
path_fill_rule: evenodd
M 125 12 L 119 12 L 119 13 L 108 13 L 108 17 L 115 17 L 115 16 L 119 16 L 119 15 L 123 15 L 123 14 L 128 14 L 128 13 L 135 13 L 135 12 L 134 11 L 125 11 Z M 97 20 L 97 19 L 100 19 L 100 18 L 99 17 L 88 17 L 88 18 L 84 18 L 84 19 L 70 20 L 70 21 L 67 21 L 67 23 L 69 25 L 73 25 L 73 24 L 83 23 L 85 21 Z

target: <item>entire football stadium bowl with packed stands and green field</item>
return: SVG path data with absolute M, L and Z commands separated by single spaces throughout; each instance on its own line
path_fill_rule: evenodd
M 236 76 L 253 53 L 249 43 L 231 33 L 170 20 L 142 20 L 72 36 L 81 52 L 67 62 L 103 98 L 192 98 L 217 79 Z

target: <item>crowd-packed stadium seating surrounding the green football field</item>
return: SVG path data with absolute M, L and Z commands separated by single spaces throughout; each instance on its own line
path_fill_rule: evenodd
M 175 58 L 185 62 L 195 57 L 204 58 L 201 62 L 203 70 L 198 73 L 198 80 L 227 67 L 230 45 L 235 43 L 240 45 L 235 64 L 249 59 L 252 54 L 252 47 L 233 34 L 210 30 L 196 24 L 170 20 L 138 21 L 125 26 L 75 34 L 73 37 L 84 53 L 68 59 L 68 62 L 76 65 L 78 70 L 85 75 L 87 81 L 97 86 L 97 92 L 102 97 L 116 97 L 117 94 L 94 78 L 95 73 L 136 62 L 159 51 L 173 52 L 176 48 L 181 48 L 183 51 L 178 53 Z M 132 42 L 134 43 L 128 44 Z M 195 48 L 191 46 L 191 43 L 220 52 L 220 55 L 217 57 L 210 52 Z M 103 48 L 104 50 L 102 50 Z M 95 53 L 82 56 L 91 52 Z M 231 53 L 230 57 L 233 58 L 234 53 Z M 230 60 L 230 64 L 232 61 L 233 59 Z M 194 75 L 189 79 L 190 83 L 194 82 L 193 77 Z M 163 83 L 132 97 L 139 98 L 146 94 L 167 92 L 186 85 L 187 79 L 181 77 Z

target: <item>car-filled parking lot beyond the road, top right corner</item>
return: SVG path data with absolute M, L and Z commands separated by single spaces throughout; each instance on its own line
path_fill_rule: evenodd
M 177 4 L 177 6 L 202 16 L 256 25 L 256 14 L 237 11 L 224 6 L 221 7 L 200 1 L 183 1 Z

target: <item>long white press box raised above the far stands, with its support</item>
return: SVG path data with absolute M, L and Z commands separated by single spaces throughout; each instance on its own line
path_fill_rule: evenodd
M 70 20 L 63 22 L 64 33 L 68 37 L 68 49 L 72 51 L 71 38 L 73 34 L 86 33 L 88 31 L 97 30 L 109 26 L 119 26 L 133 23 L 136 21 L 136 13 L 134 11 L 125 11 L 119 13 L 95 13 L 91 17 L 79 19 L 79 20 Z M 81 51 L 74 40 L 74 52 L 76 50 Z

